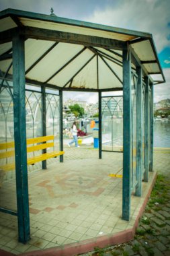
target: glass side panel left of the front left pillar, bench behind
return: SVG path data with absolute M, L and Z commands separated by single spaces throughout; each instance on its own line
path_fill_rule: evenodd
M 1 82 L 0 80 L 0 84 Z M 16 212 L 13 98 L 11 94 L 12 89 L 4 80 L 0 94 L 0 207 Z M 13 146 L 5 148 L 4 145 L 7 142 L 12 142 Z

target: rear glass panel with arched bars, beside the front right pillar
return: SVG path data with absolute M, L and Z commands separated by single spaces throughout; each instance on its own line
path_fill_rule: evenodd
M 122 96 L 103 97 L 102 143 L 103 150 L 122 151 L 123 144 L 123 99 Z

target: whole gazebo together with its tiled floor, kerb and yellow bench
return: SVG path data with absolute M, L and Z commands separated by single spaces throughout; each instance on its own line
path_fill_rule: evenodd
M 153 88 L 165 77 L 152 35 L 14 9 L 0 12 L 0 24 L 4 244 L 17 254 L 75 255 L 129 241 L 156 177 Z M 64 91 L 98 93 L 98 150 L 64 143 Z M 121 152 L 103 146 L 113 92 Z M 118 171 L 122 179 L 109 176 Z

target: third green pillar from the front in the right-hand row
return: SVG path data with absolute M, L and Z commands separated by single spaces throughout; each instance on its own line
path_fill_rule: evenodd
M 150 139 L 150 129 L 149 129 L 149 80 L 148 77 L 144 77 L 145 83 L 145 113 L 144 113 L 144 144 L 145 144 L 145 171 L 144 171 L 144 181 L 148 181 L 148 166 L 149 166 L 149 139 Z

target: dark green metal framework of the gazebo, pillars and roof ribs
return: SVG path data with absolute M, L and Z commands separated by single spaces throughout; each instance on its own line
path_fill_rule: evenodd
M 70 32 L 60 32 L 55 30 L 46 30 L 42 28 L 30 28 L 30 27 L 22 27 L 19 20 L 17 20 L 17 15 L 19 17 L 25 17 L 30 19 L 44 20 L 44 22 L 58 22 L 59 24 L 69 24 L 71 26 L 79 26 L 84 28 L 90 28 L 93 30 L 103 30 L 110 31 L 120 34 L 126 34 L 131 36 L 138 36 L 138 39 L 131 41 L 130 44 L 134 42 L 139 42 L 140 40 L 149 40 L 151 45 L 153 46 L 153 51 L 155 53 L 155 58 L 160 68 L 160 73 L 163 76 L 163 80 L 165 82 L 165 77 L 163 75 L 161 65 L 157 58 L 157 53 L 155 50 L 155 45 L 153 42 L 153 38 L 151 34 L 143 33 L 143 32 L 134 32 L 123 30 L 120 28 L 112 28 L 110 26 L 102 26 L 98 24 L 91 24 L 87 22 L 79 22 L 73 21 L 69 19 L 63 19 L 58 17 L 53 17 L 49 15 L 38 15 L 35 13 L 28 13 L 25 11 L 17 11 L 17 10 L 7 10 L 1 11 L 0 18 L 4 18 L 6 16 L 13 15 L 15 21 L 17 21 L 17 28 L 12 28 L 11 30 L 6 30 L 0 33 L 0 43 L 11 42 L 13 44 L 13 53 L 11 55 L 11 51 L 7 51 L 4 55 L 0 56 L 0 59 L 11 59 L 13 58 L 13 62 L 10 63 L 7 72 L 2 73 L 1 77 L 3 79 L 13 79 L 13 103 L 14 103 L 14 127 L 15 127 L 15 167 L 16 167 L 16 187 L 17 187 L 17 213 L 10 210 L 3 210 L 2 212 L 7 212 L 9 214 L 13 214 L 17 216 L 18 219 L 18 231 L 19 231 L 19 241 L 22 243 L 26 243 L 30 239 L 30 216 L 29 216 L 29 201 L 28 201 L 28 170 L 27 170 L 27 152 L 26 152 L 26 102 L 25 102 L 25 84 L 26 82 L 29 84 L 34 84 L 42 87 L 42 123 L 43 123 L 43 135 L 46 135 L 46 100 L 45 100 L 45 88 L 55 88 L 59 90 L 60 97 L 60 150 L 63 150 L 63 136 L 62 136 L 62 91 L 63 90 L 75 90 L 75 91 L 87 91 L 87 92 L 98 92 L 99 93 L 99 158 L 102 158 L 102 137 L 101 137 L 101 92 L 104 91 L 114 91 L 114 90 L 122 90 L 122 88 L 110 88 L 105 90 L 99 90 L 99 69 L 98 69 L 98 58 L 107 65 L 107 67 L 112 71 L 113 75 L 117 77 L 120 84 L 123 83 L 123 112 L 124 112 L 124 124 L 123 124 L 123 204 L 122 204 L 122 218 L 124 220 L 130 220 L 130 200 L 131 193 L 134 184 L 132 184 L 132 156 L 133 156 L 133 147 L 132 147 L 132 73 L 136 75 L 134 69 L 132 69 L 132 63 L 135 65 L 138 77 L 138 85 L 137 85 L 137 99 L 138 99 L 138 107 L 137 107 L 137 169 L 136 169 L 136 177 L 137 183 L 136 186 L 136 195 L 140 196 L 142 193 L 142 156 L 144 154 L 144 181 L 148 181 L 148 170 L 153 170 L 153 81 L 148 79 L 148 73 L 144 69 L 144 62 L 142 63 L 132 46 L 128 44 L 128 42 L 122 42 L 120 40 L 114 40 L 109 38 L 101 38 L 99 36 L 87 36 L 82 34 L 74 34 Z M 141 38 L 140 38 L 141 37 Z M 83 51 L 89 49 L 94 53 L 94 55 L 81 67 L 77 73 L 79 73 L 85 65 L 87 65 L 93 57 L 97 57 L 97 90 L 82 90 L 81 88 L 71 88 L 71 84 L 75 75 L 69 79 L 69 81 L 63 86 L 63 88 L 59 88 L 57 86 L 53 86 L 52 84 L 46 84 L 51 77 L 46 79 L 46 83 L 37 82 L 35 80 L 26 79 L 25 77 L 25 67 L 24 67 L 24 42 L 27 38 L 41 39 L 41 40 L 49 40 L 54 41 L 55 43 L 40 57 L 34 64 L 26 71 L 28 73 L 42 58 L 46 56 L 46 54 L 51 51 L 58 42 L 67 42 L 73 44 L 81 44 L 83 45 L 83 49 L 79 51 L 70 61 L 65 63 L 60 69 L 56 70 L 52 76 L 56 75 L 56 73 L 60 72 L 66 65 L 71 63 L 76 57 L 81 55 Z M 100 47 L 107 50 L 107 53 L 103 53 L 100 50 L 93 49 L 93 46 Z M 121 50 L 123 52 L 122 55 L 116 53 L 114 50 Z M 11 49 L 10 49 L 11 50 Z M 122 58 L 122 61 L 115 60 L 114 57 L 108 55 L 108 53 L 114 53 Z M 117 65 L 121 65 L 123 67 L 123 81 L 118 77 L 116 72 L 108 65 L 108 62 L 105 59 L 109 59 L 109 61 L 114 62 Z M 11 75 L 7 75 L 9 69 L 13 65 L 13 77 Z M 145 148 L 144 152 L 142 150 L 142 75 L 144 75 L 144 84 L 145 84 L 145 94 L 144 94 L 144 102 L 145 102 L 145 113 L 144 113 L 144 143 Z M 151 84 L 151 102 L 149 102 L 149 82 Z M 1 87 L 3 86 L 3 82 L 1 83 Z M 8 86 L 8 85 L 7 85 Z M 10 91 L 10 86 L 9 91 Z M 1 90 L 1 88 L 0 88 Z M 151 121 L 149 120 L 149 116 L 151 116 Z M 150 153 L 150 154 L 149 154 Z M 62 156 L 60 156 L 60 162 L 63 162 Z M 43 162 L 42 168 L 46 168 L 46 162 Z

